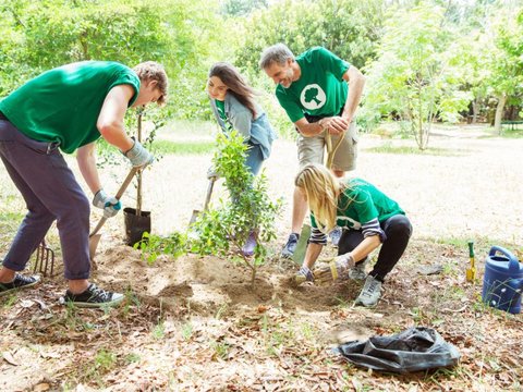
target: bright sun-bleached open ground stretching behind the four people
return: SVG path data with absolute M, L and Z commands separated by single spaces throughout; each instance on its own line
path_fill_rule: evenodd
M 418 237 L 476 236 L 523 243 L 523 139 L 484 138 L 472 127 L 438 131 L 430 147 L 443 155 L 374 154 L 366 149 L 390 144 L 413 146 L 409 140 L 384 140 L 363 135 L 357 169 L 362 176 L 394 198 L 408 212 Z M 153 230 L 168 234 L 183 230 L 193 209 L 203 206 L 210 155 L 168 156 L 144 174 L 144 209 L 153 211 Z M 269 191 L 282 197 L 284 208 L 277 225 L 281 242 L 290 229 L 292 189 L 297 171 L 296 148 L 278 139 L 265 164 Z M 117 184 L 105 172 L 106 187 Z M 124 172 L 120 172 L 123 177 Z M 121 180 L 120 180 L 121 181 Z M 227 196 L 218 183 L 212 200 Z M 133 189 L 124 205 L 133 206 Z M 120 219 L 120 218 L 118 218 Z M 120 219 L 121 221 L 121 219 Z M 110 222 L 114 224 L 117 220 Z

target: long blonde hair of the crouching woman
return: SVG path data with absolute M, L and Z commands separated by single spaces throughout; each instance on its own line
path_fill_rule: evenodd
M 324 233 L 336 226 L 338 197 L 345 188 L 332 172 L 323 164 L 305 166 L 296 175 L 294 185 L 305 192 L 318 229 Z

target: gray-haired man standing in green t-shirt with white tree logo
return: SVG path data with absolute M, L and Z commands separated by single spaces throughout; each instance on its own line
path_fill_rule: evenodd
M 332 161 L 332 172 L 342 177 L 354 170 L 357 135 L 354 114 L 360 103 L 365 77 L 360 70 L 329 50 L 314 47 L 297 58 L 283 44 L 264 50 L 259 66 L 278 85 L 276 96 L 297 132 L 300 168 L 324 163 L 326 133 L 332 145 L 343 137 Z M 294 188 L 292 232 L 281 252 L 292 257 L 307 203 Z

